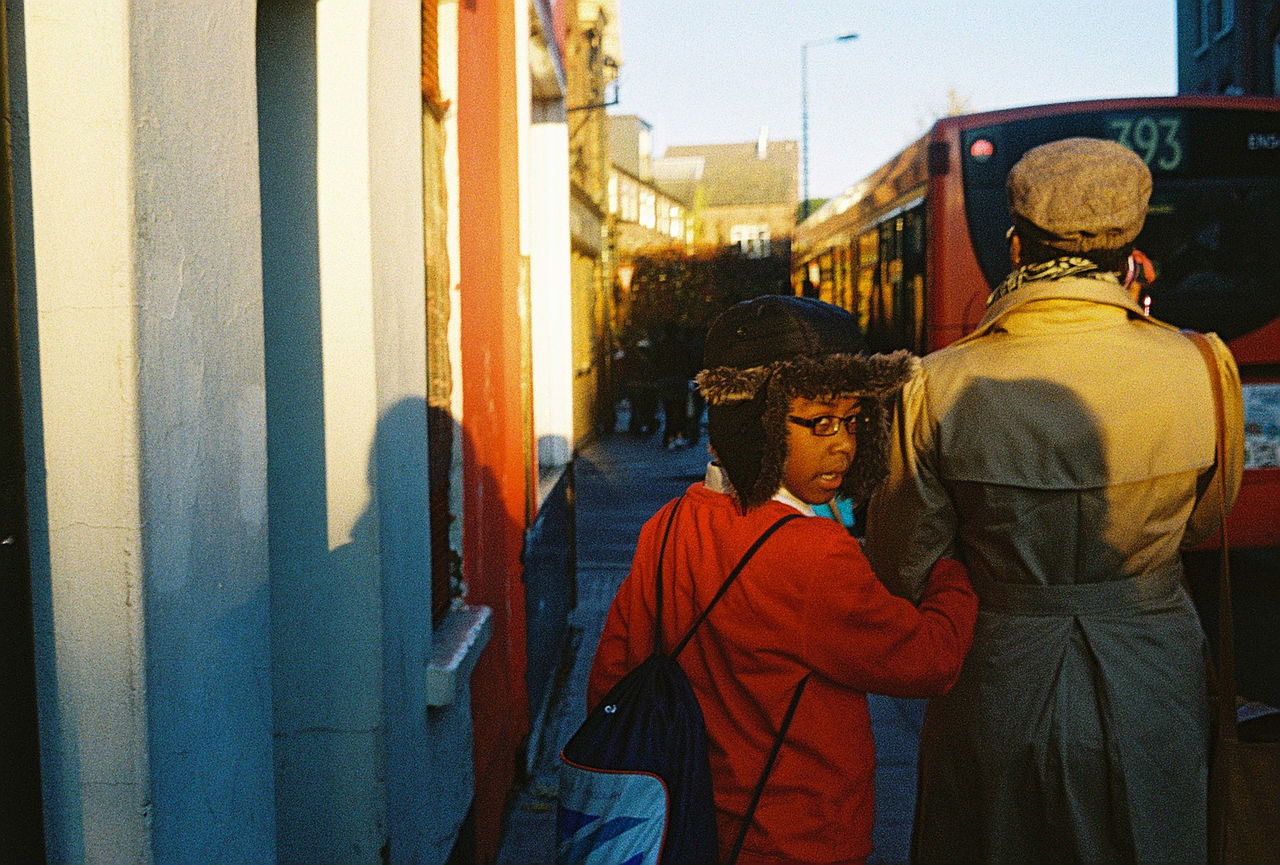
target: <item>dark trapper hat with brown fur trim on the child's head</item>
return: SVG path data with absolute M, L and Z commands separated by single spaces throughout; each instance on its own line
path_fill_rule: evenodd
M 768 502 L 782 485 L 795 397 L 859 397 L 869 422 L 840 494 L 863 502 L 884 479 L 888 403 L 919 360 L 905 351 L 867 354 L 864 347 L 854 316 L 804 297 L 742 301 L 712 322 L 696 381 L 712 450 L 744 507 Z

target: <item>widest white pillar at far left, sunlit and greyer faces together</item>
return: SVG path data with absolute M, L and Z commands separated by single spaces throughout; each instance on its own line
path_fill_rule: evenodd
M 50 861 L 275 857 L 253 19 L 24 4 Z

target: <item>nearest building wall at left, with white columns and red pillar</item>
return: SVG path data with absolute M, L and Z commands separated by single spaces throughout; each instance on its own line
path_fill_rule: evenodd
M 47 861 L 492 860 L 600 302 L 570 12 L 5 4 Z

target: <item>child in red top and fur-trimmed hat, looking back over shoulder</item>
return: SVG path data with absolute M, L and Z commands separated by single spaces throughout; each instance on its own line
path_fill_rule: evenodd
M 865 498 L 884 473 L 884 406 L 915 360 L 861 348 L 852 316 L 819 301 L 760 297 L 716 320 L 699 376 L 716 461 L 645 523 L 591 667 L 595 705 L 650 654 L 659 559 L 675 641 L 767 527 L 804 514 L 759 548 L 678 656 L 707 722 L 722 856 L 808 677 L 740 865 L 865 861 L 867 692 L 945 692 L 972 636 L 977 600 L 957 562 L 937 562 L 916 607 L 879 583 L 838 522 L 813 516 L 837 494 Z

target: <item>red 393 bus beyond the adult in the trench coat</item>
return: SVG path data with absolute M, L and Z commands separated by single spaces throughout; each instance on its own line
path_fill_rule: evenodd
M 792 288 L 854 312 L 874 351 L 938 349 L 1009 274 L 1005 178 L 1030 147 L 1112 138 L 1151 168 L 1137 239 L 1151 315 L 1215 331 L 1240 366 L 1244 486 L 1233 546 L 1280 545 L 1280 99 L 1100 100 L 938 120 L 796 226 Z

